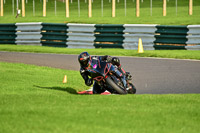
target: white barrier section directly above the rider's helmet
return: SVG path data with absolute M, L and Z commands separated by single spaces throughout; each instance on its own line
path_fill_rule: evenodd
M 95 48 L 95 24 L 67 24 L 68 48 Z

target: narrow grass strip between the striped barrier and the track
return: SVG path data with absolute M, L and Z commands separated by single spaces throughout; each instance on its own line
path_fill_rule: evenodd
M 200 60 L 199 50 L 146 50 L 138 54 L 137 50 L 125 49 L 69 49 L 41 46 L 25 45 L 0 45 L 0 51 L 11 52 L 33 52 L 33 53 L 55 53 L 55 54 L 80 54 L 87 51 L 91 55 L 111 55 L 111 56 L 133 56 L 133 57 L 158 57 L 175 59 L 197 59 Z

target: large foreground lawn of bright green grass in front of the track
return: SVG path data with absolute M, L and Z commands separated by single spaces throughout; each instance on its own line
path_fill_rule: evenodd
M 0 73 L 2 133 L 199 132 L 199 94 L 77 95 L 78 71 L 1 62 Z

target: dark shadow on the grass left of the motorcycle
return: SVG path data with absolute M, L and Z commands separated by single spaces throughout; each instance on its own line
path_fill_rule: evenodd
M 42 87 L 42 86 L 37 86 L 34 85 L 34 87 L 40 88 L 40 89 L 49 89 L 49 90 L 58 90 L 58 91 L 65 91 L 70 94 L 78 94 L 75 89 L 71 87 L 58 87 L 58 86 L 53 86 L 53 87 Z

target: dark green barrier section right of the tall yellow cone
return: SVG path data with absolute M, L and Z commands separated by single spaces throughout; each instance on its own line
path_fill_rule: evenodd
M 185 49 L 187 42 L 187 26 L 156 26 L 155 49 Z

